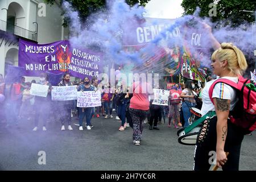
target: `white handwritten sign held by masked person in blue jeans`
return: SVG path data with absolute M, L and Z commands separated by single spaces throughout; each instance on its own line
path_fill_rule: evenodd
M 77 92 L 77 107 L 97 107 L 101 106 L 100 91 Z

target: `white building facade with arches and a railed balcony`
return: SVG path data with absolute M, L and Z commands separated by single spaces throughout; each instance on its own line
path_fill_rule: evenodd
M 68 39 L 62 23 L 58 1 L 50 6 L 43 0 L 1 0 L 0 74 L 7 65 L 18 66 L 19 38 L 38 44 Z

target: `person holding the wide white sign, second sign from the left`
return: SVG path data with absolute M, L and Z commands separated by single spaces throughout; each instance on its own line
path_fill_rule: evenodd
M 70 82 L 69 73 L 64 73 L 63 80 L 59 82 L 58 86 L 72 86 L 72 82 Z M 64 123 L 68 123 L 68 130 L 73 130 L 71 127 L 71 110 L 73 109 L 73 101 L 60 101 L 61 102 L 61 130 L 65 130 Z

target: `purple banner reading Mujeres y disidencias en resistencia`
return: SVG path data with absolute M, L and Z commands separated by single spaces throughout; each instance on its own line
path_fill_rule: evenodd
M 103 72 L 102 53 L 85 48 L 71 47 L 68 40 L 36 44 L 19 40 L 19 67 L 26 76 L 48 72 L 55 75 L 68 72 L 71 76 L 98 77 Z

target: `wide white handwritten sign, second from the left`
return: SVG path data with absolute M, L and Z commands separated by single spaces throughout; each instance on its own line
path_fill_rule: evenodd
M 52 101 L 72 101 L 77 99 L 77 86 L 53 86 Z

